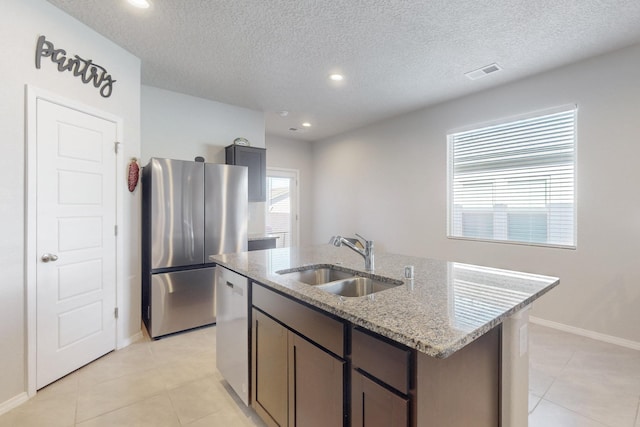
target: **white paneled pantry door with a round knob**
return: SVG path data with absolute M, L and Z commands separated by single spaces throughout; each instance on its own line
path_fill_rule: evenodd
M 36 388 L 115 348 L 117 125 L 38 99 Z

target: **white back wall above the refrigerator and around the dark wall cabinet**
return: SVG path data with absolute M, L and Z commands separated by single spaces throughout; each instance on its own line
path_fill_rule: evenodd
M 142 162 L 151 157 L 224 163 L 224 147 L 239 137 L 265 147 L 264 113 L 142 86 Z M 267 153 L 268 158 L 268 153 Z M 264 203 L 249 203 L 249 233 L 265 230 Z

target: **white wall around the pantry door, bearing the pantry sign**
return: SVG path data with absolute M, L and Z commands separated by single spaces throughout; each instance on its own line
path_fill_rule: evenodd
M 58 72 L 49 58 L 35 68 L 36 40 L 45 35 L 56 48 L 91 58 L 117 82 L 110 98 L 72 73 Z M 140 61 L 44 0 L 0 2 L 0 406 L 26 391 L 25 323 L 25 85 L 85 104 L 124 120 L 125 159 L 140 150 Z M 123 166 L 124 168 L 124 166 Z M 126 177 L 122 177 L 126 185 Z M 139 197 L 126 192 L 125 307 L 120 307 L 121 339 L 140 331 Z M 133 237 L 132 237 L 133 236 Z

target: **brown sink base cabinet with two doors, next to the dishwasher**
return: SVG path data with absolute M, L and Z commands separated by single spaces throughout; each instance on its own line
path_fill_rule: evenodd
M 323 346 L 343 354 L 345 325 L 256 284 L 253 303 L 256 413 L 269 426 L 345 426 L 346 363 Z

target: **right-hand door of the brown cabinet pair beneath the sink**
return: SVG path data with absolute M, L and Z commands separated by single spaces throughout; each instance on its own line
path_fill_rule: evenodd
M 345 362 L 295 333 L 289 339 L 289 424 L 343 426 Z

